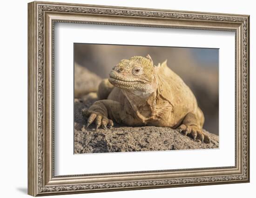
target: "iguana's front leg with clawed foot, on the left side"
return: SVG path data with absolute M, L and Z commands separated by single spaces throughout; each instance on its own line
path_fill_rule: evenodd
M 94 102 L 89 109 L 82 110 L 82 115 L 88 118 L 86 128 L 93 123 L 93 121 L 95 121 L 96 129 L 99 127 L 107 129 L 107 126 L 109 128 L 113 127 L 114 123 L 112 120 L 118 123 L 121 122 L 121 108 L 120 102 L 112 100 Z

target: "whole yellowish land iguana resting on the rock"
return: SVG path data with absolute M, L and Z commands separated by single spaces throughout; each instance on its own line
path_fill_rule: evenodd
M 154 66 L 152 58 L 123 59 L 103 80 L 99 101 L 83 109 L 86 128 L 95 121 L 96 130 L 113 126 L 156 126 L 179 129 L 194 141 L 210 142 L 202 130 L 204 115 L 194 94 L 181 77 L 168 68 L 167 60 Z

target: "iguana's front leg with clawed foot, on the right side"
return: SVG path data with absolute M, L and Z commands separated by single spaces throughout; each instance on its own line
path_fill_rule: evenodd
M 202 126 L 199 119 L 192 112 L 189 112 L 184 117 L 182 124 L 178 127 L 178 129 L 180 129 L 181 132 L 183 131 L 185 135 L 190 134 L 194 141 L 201 140 L 202 143 L 210 143 L 210 137 L 202 131 Z

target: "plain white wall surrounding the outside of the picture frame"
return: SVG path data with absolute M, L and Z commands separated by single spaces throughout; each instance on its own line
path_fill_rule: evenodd
M 55 1 L 55 0 L 52 0 Z M 93 194 L 64 195 L 61 197 L 181 197 L 216 198 L 229 196 L 253 197 L 256 188 L 256 13 L 250 0 L 61 0 L 109 6 L 148 7 L 172 10 L 188 10 L 215 13 L 250 14 L 250 116 L 251 182 L 246 184 L 208 185 L 196 187 L 151 189 L 140 191 L 105 192 Z M 27 0 L 1 2 L 0 11 L 0 195 L 7 198 L 27 195 Z M 58 2 L 58 1 L 56 1 Z M 256 78 L 254 78 L 256 79 Z

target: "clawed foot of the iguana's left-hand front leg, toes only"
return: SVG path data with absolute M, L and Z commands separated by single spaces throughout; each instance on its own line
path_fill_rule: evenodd
M 93 110 L 89 110 L 89 109 L 82 109 L 82 115 L 84 117 L 87 117 L 87 125 L 86 128 L 88 128 L 88 126 L 93 123 L 93 121 L 95 121 L 95 125 L 96 125 L 96 130 L 101 127 L 104 129 L 108 128 L 112 128 L 114 123 L 112 120 L 108 119 L 107 116 L 102 115 L 101 113 L 97 112 L 97 111 L 93 111 Z

